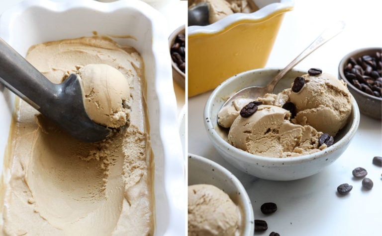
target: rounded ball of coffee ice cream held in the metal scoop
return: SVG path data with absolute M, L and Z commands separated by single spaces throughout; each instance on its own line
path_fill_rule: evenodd
M 107 64 L 88 64 L 78 70 L 88 116 L 96 123 L 117 128 L 129 120 L 130 87 L 124 75 Z

